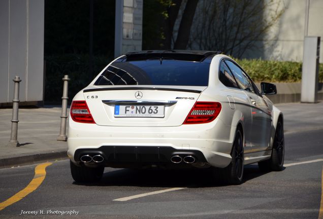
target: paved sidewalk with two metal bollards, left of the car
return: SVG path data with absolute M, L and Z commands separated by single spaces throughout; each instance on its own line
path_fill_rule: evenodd
M 8 147 L 12 109 L 0 108 L 0 168 L 68 158 L 67 142 L 56 140 L 60 114 L 60 107 L 19 108 L 20 147 Z

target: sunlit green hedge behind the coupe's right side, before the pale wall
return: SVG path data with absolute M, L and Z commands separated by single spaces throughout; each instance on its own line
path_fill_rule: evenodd
M 254 82 L 300 82 L 302 63 L 262 59 L 235 59 Z M 319 64 L 319 81 L 323 82 L 323 64 Z

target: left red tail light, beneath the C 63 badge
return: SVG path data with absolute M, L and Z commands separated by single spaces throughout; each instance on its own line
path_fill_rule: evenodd
M 84 100 L 76 100 L 72 102 L 71 117 L 75 122 L 95 123 Z

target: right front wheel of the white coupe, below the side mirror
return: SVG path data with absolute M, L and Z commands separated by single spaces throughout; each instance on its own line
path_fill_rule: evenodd
M 278 121 L 271 157 L 269 160 L 258 162 L 259 169 L 263 172 L 283 170 L 284 156 L 284 129 L 281 121 Z

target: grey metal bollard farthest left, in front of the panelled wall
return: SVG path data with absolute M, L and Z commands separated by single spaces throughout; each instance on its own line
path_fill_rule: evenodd
M 17 133 L 18 133 L 18 109 L 19 109 L 19 83 L 21 82 L 21 79 L 19 76 L 15 76 L 15 78 L 12 80 L 15 82 L 14 86 L 14 98 L 12 100 L 12 120 L 11 120 L 11 138 L 8 143 L 8 146 L 11 147 L 19 147 L 19 142 L 17 140 Z

